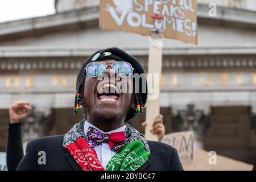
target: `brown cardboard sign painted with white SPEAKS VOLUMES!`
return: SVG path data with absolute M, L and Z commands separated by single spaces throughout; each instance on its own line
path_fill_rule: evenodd
M 104 0 L 100 28 L 152 35 L 197 44 L 196 0 Z

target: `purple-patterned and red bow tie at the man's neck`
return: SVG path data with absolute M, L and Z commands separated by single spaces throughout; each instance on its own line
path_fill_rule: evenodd
M 108 143 L 113 151 L 119 152 L 125 146 L 125 134 L 123 132 L 102 134 L 99 130 L 89 126 L 86 133 L 86 141 L 91 148 L 97 147 L 101 143 Z

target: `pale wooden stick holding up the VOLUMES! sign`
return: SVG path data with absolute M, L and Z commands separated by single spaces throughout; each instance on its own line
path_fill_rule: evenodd
M 150 38 L 150 49 L 149 49 L 149 58 L 148 58 L 148 70 L 147 73 L 151 73 L 151 84 L 148 83 L 148 95 L 150 93 L 158 92 L 159 95 L 155 100 L 147 99 L 146 105 L 146 130 L 145 137 L 147 140 L 158 141 L 158 135 L 151 134 L 150 130 L 152 129 L 152 124 L 155 120 L 156 115 L 160 113 L 160 79 L 162 75 L 162 52 L 163 52 L 163 35 L 155 34 Z M 158 75 L 158 80 L 154 80 L 154 74 Z M 148 80 L 150 81 L 150 80 Z M 154 86 L 159 84 L 158 86 Z M 158 90 L 155 90 L 158 88 Z

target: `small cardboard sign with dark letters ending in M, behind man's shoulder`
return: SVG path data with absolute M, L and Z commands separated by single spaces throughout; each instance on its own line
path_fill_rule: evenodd
M 184 131 L 164 135 L 163 143 L 176 148 L 181 164 L 192 164 L 193 162 L 193 131 Z

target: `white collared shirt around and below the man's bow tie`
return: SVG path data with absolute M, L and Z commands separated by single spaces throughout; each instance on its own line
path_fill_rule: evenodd
M 122 127 L 119 127 L 116 130 L 112 130 L 109 132 L 104 132 L 100 129 L 98 129 L 96 126 L 92 125 L 91 123 L 89 123 L 88 121 L 84 122 L 84 135 L 86 136 L 87 130 L 90 127 L 94 127 L 94 129 L 99 130 L 102 134 L 103 133 L 115 133 L 115 132 L 123 132 L 125 131 L 125 125 L 123 125 Z M 107 164 L 109 163 L 109 160 L 115 155 L 115 151 L 111 150 L 109 147 L 108 143 L 102 143 L 100 145 L 98 145 L 97 147 L 94 147 L 94 150 L 97 153 L 98 156 L 98 160 L 100 160 L 100 163 L 102 164 L 102 166 L 106 169 Z

